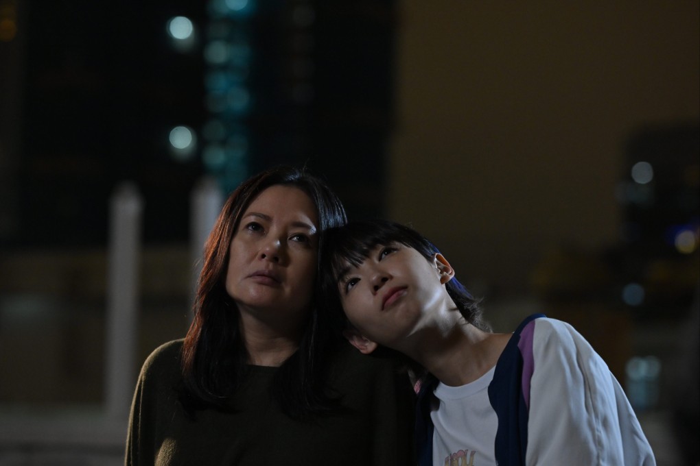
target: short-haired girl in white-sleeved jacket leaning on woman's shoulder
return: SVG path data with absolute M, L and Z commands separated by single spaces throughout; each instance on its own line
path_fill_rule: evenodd
M 421 465 L 654 465 L 608 366 L 567 323 L 529 316 L 489 332 L 474 298 L 428 240 L 391 221 L 328 233 L 323 291 L 362 353 L 379 345 L 425 369 Z

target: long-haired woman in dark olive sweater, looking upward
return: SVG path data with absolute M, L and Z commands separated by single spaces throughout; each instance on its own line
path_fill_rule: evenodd
M 241 184 L 209 240 L 184 340 L 141 370 L 127 465 L 406 465 L 412 388 L 333 337 L 318 247 L 345 224 L 320 180 L 274 168 Z

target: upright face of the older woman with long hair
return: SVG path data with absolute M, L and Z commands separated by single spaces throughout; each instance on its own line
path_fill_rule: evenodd
M 318 260 L 318 218 L 295 187 L 262 191 L 241 215 L 229 247 L 226 291 L 241 314 L 295 322 L 309 310 Z

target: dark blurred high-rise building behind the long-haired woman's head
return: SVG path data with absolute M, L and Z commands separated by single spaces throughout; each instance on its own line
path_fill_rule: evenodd
M 183 206 L 195 180 L 213 171 L 230 191 L 246 175 L 207 170 L 201 159 L 201 131 L 213 117 L 204 82 L 221 72 L 202 52 L 217 24 L 244 36 L 251 49 L 243 83 L 251 105 L 242 115 L 216 115 L 248 138 L 247 174 L 277 163 L 305 165 L 345 194 L 349 210 L 383 212 L 393 2 L 320 3 L 302 26 L 294 14 L 310 8 L 305 2 L 251 2 L 228 16 L 206 7 L 184 1 L 16 6 L 24 43 L 3 47 L 22 48 L 25 64 L 21 89 L 13 89 L 22 96 L 22 119 L 11 119 L 15 126 L 5 130 L 21 135 L 14 154 L 19 198 L 16 228 L 0 238 L 3 244 L 104 242 L 107 199 L 122 180 L 136 182 L 144 195 L 146 242 L 186 240 Z M 186 51 L 166 34 L 175 15 L 195 23 L 198 36 Z M 303 50 L 294 46 L 300 40 L 309 42 Z M 297 101 L 294 69 L 304 65 L 311 67 L 304 84 L 312 98 Z M 197 154 L 184 161 L 168 152 L 167 134 L 179 124 L 200 132 Z M 363 202 L 360 191 L 379 201 Z

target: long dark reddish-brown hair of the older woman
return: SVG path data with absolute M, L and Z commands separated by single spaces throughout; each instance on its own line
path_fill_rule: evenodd
M 225 202 L 204 248 L 197 284 L 193 323 L 182 349 L 182 369 L 188 407 L 224 407 L 244 377 L 248 351 L 241 335 L 237 305 L 225 289 L 230 243 L 241 214 L 265 189 L 283 185 L 301 189 L 316 205 L 319 247 L 325 231 L 346 224 L 342 203 L 328 186 L 297 168 L 272 168 L 243 182 Z M 318 277 L 318 266 L 317 266 Z M 318 293 L 311 303 L 299 349 L 276 372 L 273 396 L 293 418 L 323 412 L 332 406 L 323 393 L 322 361 L 330 345 L 326 313 L 320 312 Z

